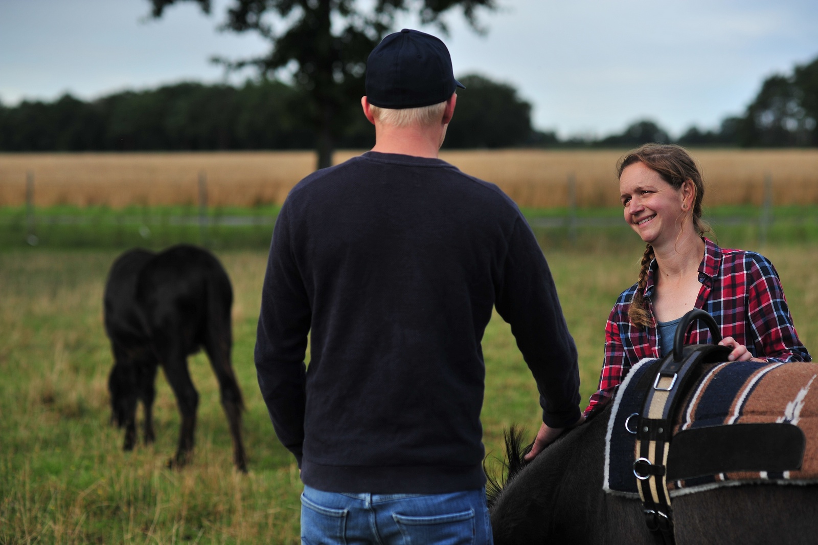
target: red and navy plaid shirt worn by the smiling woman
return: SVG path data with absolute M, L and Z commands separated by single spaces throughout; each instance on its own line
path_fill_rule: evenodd
M 654 307 L 654 276 L 657 264 L 650 263 L 645 300 L 651 317 Z M 704 239 L 704 259 L 699 265 L 702 287 L 695 308 L 715 318 L 721 336 L 733 337 L 747 346 L 753 358 L 770 362 L 810 362 L 807 349 L 798 340 L 789 314 L 787 300 L 778 272 L 761 254 L 744 250 L 721 250 Z M 645 329 L 633 326 L 627 317 L 636 284 L 619 295 L 605 326 L 605 361 L 600 374 L 600 390 L 591 395 L 586 412 L 609 398 L 622 382 L 631 365 L 642 358 L 659 358 L 659 335 L 656 320 Z M 694 322 L 685 336 L 687 345 L 712 343 L 710 330 Z

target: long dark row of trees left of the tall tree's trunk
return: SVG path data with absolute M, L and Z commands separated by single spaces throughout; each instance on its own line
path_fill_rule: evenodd
M 85 102 L 0 107 L 3 151 L 305 149 L 314 143 L 299 93 L 276 81 L 178 83 Z

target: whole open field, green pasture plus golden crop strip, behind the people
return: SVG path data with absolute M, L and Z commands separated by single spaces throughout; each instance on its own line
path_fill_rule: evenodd
M 642 251 L 616 208 L 613 164 L 621 153 L 443 154 L 527 207 L 577 341 L 583 402 L 596 387 L 605 319 L 635 281 Z M 694 154 L 710 182 L 706 214 L 720 244 L 773 260 L 802 341 L 818 350 L 818 151 Z M 339 152 L 336 161 L 349 155 Z M 0 155 L 0 545 L 297 543 L 298 470 L 273 434 L 252 355 L 276 203 L 312 164 L 307 152 Z M 28 172 L 36 247 L 26 243 Z M 775 222 L 764 227 L 758 205 L 766 173 Z M 203 186 L 204 230 L 198 223 Z M 578 209 L 571 217 L 585 222 L 578 227 L 564 223 L 572 191 Z M 220 218 L 242 221 L 236 227 Z M 122 248 L 178 241 L 207 243 L 233 282 L 233 362 L 247 405 L 249 475 L 232 469 L 218 385 L 201 355 L 191 360 L 200 391 L 191 466 L 164 466 L 179 423 L 164 377 L 157 382 L 155 445 L 123 453 L 122 433 L 109 425 L 112 362 L 101 321 L 106 273 Z M 537 393 L 509 327 L 497 317 L 483 354 L 484 440 L 488 453 L 499 455 L 508 426 L 536 430 Z

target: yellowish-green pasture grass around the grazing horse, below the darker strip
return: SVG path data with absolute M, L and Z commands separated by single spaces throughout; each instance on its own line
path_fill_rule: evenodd
M 759 245 L 755 228 L 724 225 L 717 234 L 722 245 L 759 250 L 772 259 L 798 332 L 808 348 L 818 351 L 814 223 L 806 221 L 801 227 L 774 223 L 766 245 Z M 123 435 L 109 424 L 106 381 L 111 356 L 101 298 L 117 246 L 139 240 L 99 241 L 93 230 L 88 231 L 88 244 L 69 249 L 47 241 L 29 246 L 2 239 L 0 543 L 297 543 L 298 469 L 273 434 L 253 365 L 270 236 L 270 227 L 264 229 L 266 241 L 257 248 L 214 245 L 236 293 L 233 364 L 247 407 L 248 475 L 232 468 L 218 385 L 201 355 L 191 359 L 191 374 L 200 391 L 191 466 L 165 468 L 176 448 L 179 417 L 163 376 L 157 381 L 156 443 L 137 445 L 131 453 L 121 450 Z M 599 227 L 595 232 L 582 227 L 589 231 L 573 233 L 569 229 L 535 231 L 578 345 L 585 403 L 599 374 L 605 319 L 619 292 L 635 280 L 642 245 L 627 229 Z M 175 242 L 174 233 L 178 234 L 171 228 L 161 242 L 143 238 L 142 245 Z M 190 233 L 191 241 L 197 241 L 196 234 Z M 573 243 L 570 237 L 576 237 Z M 150 244 L 144 244 L 146 240 Z M 497 471 L 491 457 L 501 453 L 503 430 L 521 425 L 533 438 L 539 408 L 533 379 L 509 327 L 497 317 L 484 336 L 483 354 L 484 442 L 489 469 Z

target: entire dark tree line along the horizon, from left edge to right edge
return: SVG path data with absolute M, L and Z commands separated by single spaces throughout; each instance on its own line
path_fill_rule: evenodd
M 531 104 L 509 84 L 479 74 L 459 78 L 466 89 L 444 146 L 458 148 L 639 146 L 678 142 L 686 146 L 818 146 L 818 58 L 791 74 L 767 78 L 744 115 L 716 129 L 691 127 L 672 138 L 643 119 L 622 133 L 560 139 L 531 123 Z M 0 151 L 210 151 L 314 149 L 312 102 L 297 85 L 275 79 L 239 87 L 177 83 L 125 91 L 94 101 L 68 94 L 52 102 L 0 104 Z M 337 146 L 367 148 L 375 130 L 357 102 L 346 105 L 348 122 Z

